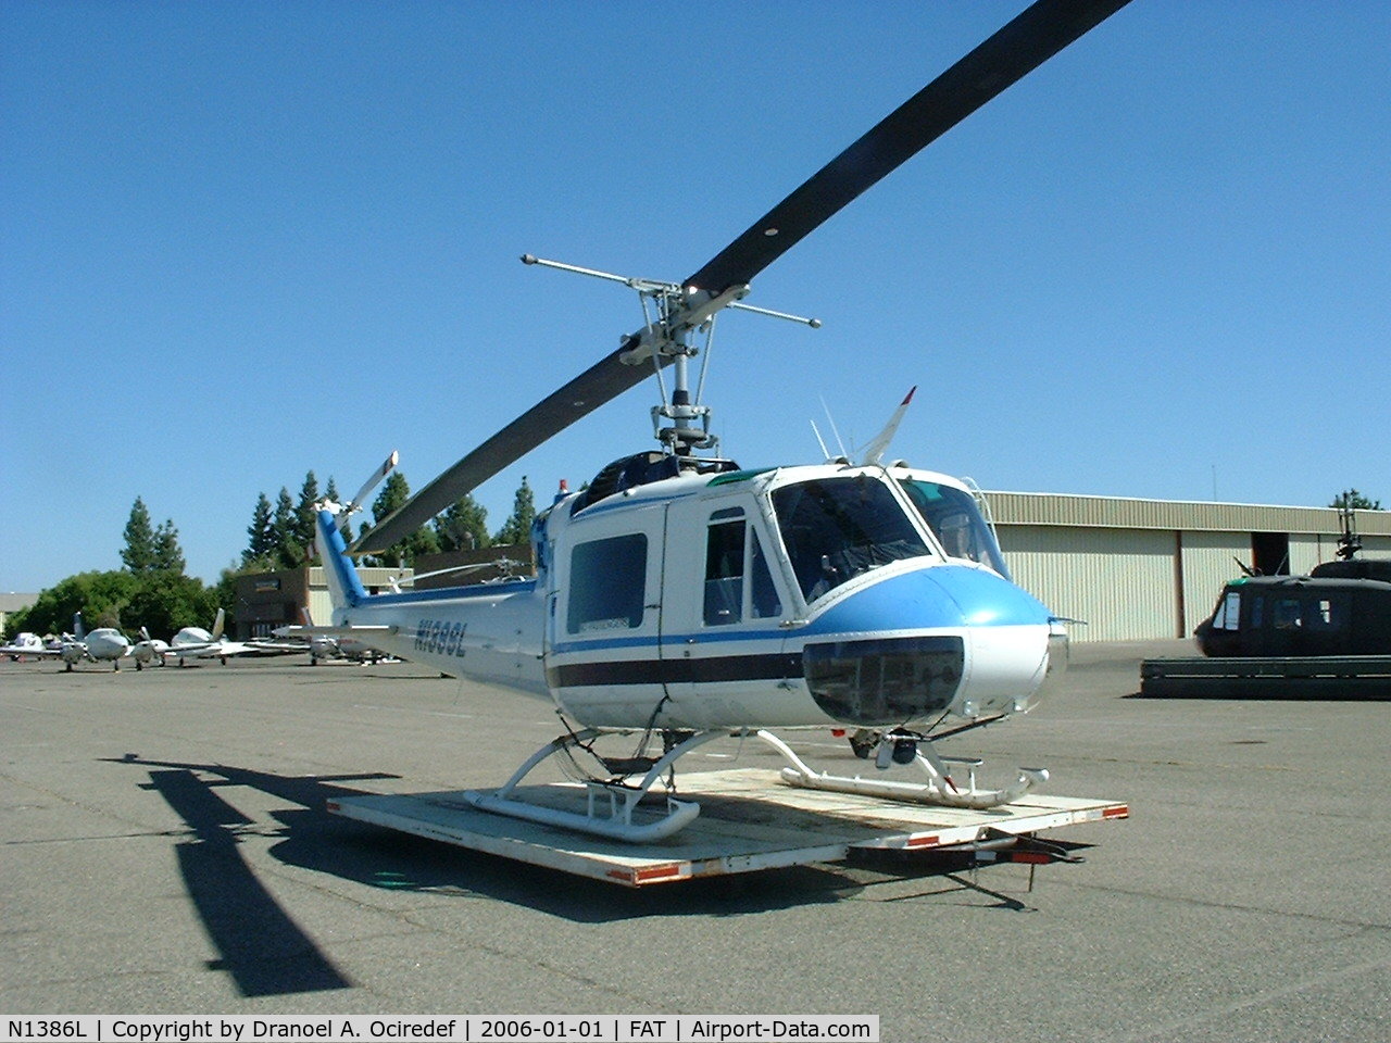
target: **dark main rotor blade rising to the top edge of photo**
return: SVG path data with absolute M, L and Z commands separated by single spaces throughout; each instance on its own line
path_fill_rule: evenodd
M 1038 0 L 822 167 L 686 285 L 721 293 L 753 282 L 855 196 L 1127 3 Z

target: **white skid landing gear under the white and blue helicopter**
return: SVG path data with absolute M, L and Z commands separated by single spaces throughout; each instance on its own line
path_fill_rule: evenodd
M 687 734 L 679 743 L 670 741 L 670 748 L 655 761 L 622 762 L 615 775 L 622 775 L 623 777 L 606 780 L 588 779 L 581 783 L 584 787 L 583 811 L 542 804 L 524 795 L 524 791 L 520 789 L 522 782 L 537 765 L 556 754 L 569 754 L 574 748 L 588 750 L 584 744 L 598 738 L 601 734 L 605 734 L 602 729 L 584 729 L 583 731 L 572 731 L 561 736 L 531 754 L 501 789 L 470 790 L 463 794 L 463 800 L 479 811 L 487 811 L 494 815 L 505 815 L 544 826 L 558 826 L 627 844 L 652 844 L 673 836 L 700 815 L 700 804 L 677 800 L 672 793 L 654 794 L 652 787 L 668 777 L 673 782 L 676 761 L 690 751 L 714 738 L 748 733 L 732 733 L 727 730 L 696 731 Z M 975 769 L 979 766 L 979 761 L 943 758 L 932 750 L 932 744 L 926 740 L 921 740 L 914 745 L 911 761 L 924 772 L 926 776 L 925 782 L 872 779 L 858 775 L 829 775 L 808 768 L 793 752 L 791 747 L 772 731 L 759 730 L 753 733 L 753 736 L 776 750 L 787 761 L 790 766 L 782 769 L 782 780 L 785 783 L 808 790 L 829 790 L 887 801 L 981 811 L 1011 804 L 1035 786 L 1047 782 L 1049 777 L 1047 772 L 1042 768 L 1021 768 L 1020 777 L 1013 784 L 997 790 L 982 790 L 976 787 L 975 780 Z M 883 747 L 885 752 L 881 757 L 881 766 L 887 766 L 887 751 L 892 748 L 893 741 L 892 736 L 882 740 L 882 743 L 887 743 L 889 745 Z M 964 773 L 961 782 L 951 775 L 949 763 L 964 769 L 958 772 L 958 775 Z M 645 772 L 640 782 L 626 782 L 626 777 L 636 775 L 637 770 L 644 768 Z M 675 784 L 672 784 L 672 790 L 675 790 Z

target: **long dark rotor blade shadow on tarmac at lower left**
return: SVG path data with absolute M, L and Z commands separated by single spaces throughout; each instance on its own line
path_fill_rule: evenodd
M 230 973 L 243 996 L 352 987 L 246 865 L 234 830 L 250 819 L 188 770 L 150 772 L 150 787 L 195 837 L 174 851 L 188 896 L 221 957 L 209 969 Z

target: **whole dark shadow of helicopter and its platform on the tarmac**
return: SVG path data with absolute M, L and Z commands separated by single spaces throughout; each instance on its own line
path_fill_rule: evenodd
M 271 837 L 268 854 L 285 865 L 392 891 L 427 891 L 460 898 L 491 898 L 580 923 L 643 916 L 766 912 L 835 903 L 867 886 L 864 873 L 825 866 L 793 866 L 645 889 L 563 876 L 484 852 L 380 829 L 330 815 L 331 798 L 363 793 L 341 783 L 398 776 L 383 773 L 287 776 L 214 763 L 182 763 L 127 754 L 108 758 L 145 768 L 152 790 L 186 825 L 175 855 L 188 894 L 221 958 L 210 969 L 228 972 L 245 996 L 353 987 L 320 951 L 289 911 L 257 879 L 242 857 L 249 837 Z M 249 787 L 296 807 L 271 812 L 275 825 L 256 822 L 221 791 Z M 921 869 L 889 866 L 872 882 L 925 876 Z M 931 876 L 943 878 L 940 871 Z

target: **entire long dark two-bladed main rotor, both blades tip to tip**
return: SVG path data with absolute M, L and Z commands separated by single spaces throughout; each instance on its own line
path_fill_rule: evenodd
M 623 338 L 369 528 L 351 553 L 384 551 L 651 371 L 690 355 L 682 338 L 748 292 L 753 278 L 921 149 L 1129 0 L 1038 0 L 885 117 L 682 284 L 655 325 Z

